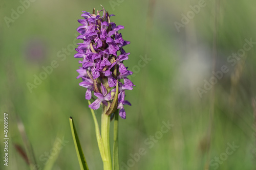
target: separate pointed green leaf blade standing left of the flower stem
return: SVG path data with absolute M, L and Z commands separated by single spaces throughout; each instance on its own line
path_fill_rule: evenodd
M 81 148 L 81 145 L 80 145 L 80 141 L 79 141 L 78 135 L 76 133 L 76 128 L 75 128 L 72 117 L 69 118 L 69 122 L 70 122 L 70 127 L 71 127 L 73 140 L 74 140 L 74 143 L 75 143 L 76 154 L 77 154 L 77 158 L 78 158 L 78 161 L 79 161 L 80 169 L 81 170 L 87 170 L 89 168 L 88 168 L 88 165 L 86 163 L 86 158 L 84 158 L 82 148 Z

